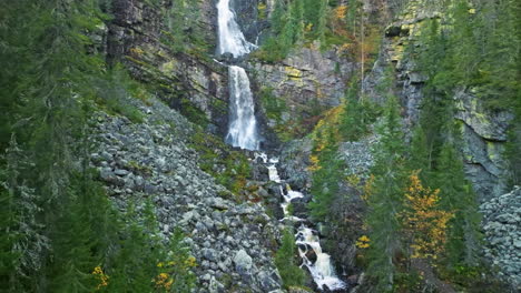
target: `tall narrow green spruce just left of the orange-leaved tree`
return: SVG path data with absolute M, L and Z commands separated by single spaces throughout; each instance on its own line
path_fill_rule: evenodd
M 391 292 L 396 273 L 395 256 L 403 249 L 399 214 L 403 209 L 406 184 L 404 134 L 400 105 L 394 95 L 389 97 L 379 134 L 381 138 L 374 149 L 375 165 L 372 169 L 375 176 L 373 193 L 367 195 L 366 223 L 371 240 L 367 273 L 374 279 L 379 292 Z

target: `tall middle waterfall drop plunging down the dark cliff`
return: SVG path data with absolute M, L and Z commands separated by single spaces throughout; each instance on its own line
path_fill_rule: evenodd
M 226 142 L 246 150 L 258 150 L 257 120 L 249 80 L 243 68 L 230 65 L 229 127 Z

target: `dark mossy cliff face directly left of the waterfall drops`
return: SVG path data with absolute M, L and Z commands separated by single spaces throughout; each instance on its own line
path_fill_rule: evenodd
M 215 50 L 215 2 L 199 0 L 194 4 L 199 11 L 197 33 L 203 33 L 208 50 Z M 163 42 L 166 14 L 175 9 L 166 0 L 155 6 L 134 0 L 114 1 L 115 19 L 108 27 L 107 55 L 109 60 L 124 62 L 135 78 L 154 83 L 170 107 L 181 109 L 193 120 L 207 120 L 213 132 L 223 132 L 227 125 L 226 68 L 196 50 L 175 53 Z M 184 28 L 184 32 L 194 33 L 189 28 Z

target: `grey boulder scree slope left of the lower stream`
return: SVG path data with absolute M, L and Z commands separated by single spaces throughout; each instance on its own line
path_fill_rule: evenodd
M 144 113 L 142 123 L 98 112 L 91 163 L 121 210 L 135 202 L 138 214 L 153 201 L 160 235 L 176 226 L 197 260 L 196 292 L 271 292 L 281 289 L 272 260 L 278 223 L 259 204 L 237 203 L 199 169 L 188 146 L 194 125 L 158 100 L 126 101 Z

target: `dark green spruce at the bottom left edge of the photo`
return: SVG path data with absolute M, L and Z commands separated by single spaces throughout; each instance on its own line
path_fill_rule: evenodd
M 33 273 L 42 267 L 49 239 L 42 234 L 37 215 L 41 206 L 35 189 L 22 174 L 33 165 L 11 139 L 0 171 L 0 289 L 6 292 L 31 291 Z

